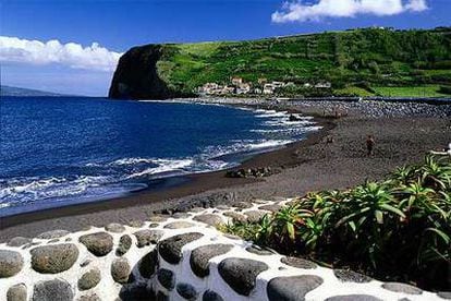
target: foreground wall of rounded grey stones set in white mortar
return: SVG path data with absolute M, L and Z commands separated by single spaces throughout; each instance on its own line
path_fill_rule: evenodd
M 214 226 L 285 201 L 237 203 L 0 245 L 0 300 L 444 300 L 398 282 L 261 250 Z

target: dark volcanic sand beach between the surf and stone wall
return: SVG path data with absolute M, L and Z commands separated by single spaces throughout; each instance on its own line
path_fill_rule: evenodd
M 255 105 L 251 106 L 255 108 Z M 264 108 L 261 104 L 256 106 Z M 424 152 L 439 148 L 451 137 L 449 132 L 447 135 L 446 120 L 437 117 L 387 119 L 351 111 L 348 117 L 330 119 L 320 117 L 325 110 L 322 105 L 284 107 L 270 104 L 265 108 L 314 116 L 315 122 L 322 127 L 304 141 L 258 154 L 240 166 L 271 166 L 279 168 L 280 173 L 257 179 L 226 178 L 227 169 L 196 173 L 169 179 L 183 183 L 166 190 L 136 192 L 125 197 L 10 216 L 0 222 L 0 241 L 16 236 L 33 237 L 49 229 L 75 231 L 90 225 L 127 224 L 145 220 L 153 213 L 171 214 L 194 206 L 208 207 L 259 197 L 295 196 L 319 189 L 342 189 L 368 178 L 381 178 L 395 166 L 419 160 Z M 423 127 L 425 131 L 420 131 L 419 135 L 407 133 L 412 127 Z M 376 158 L 363 155 L 362 140 L 369 131 L 377 132 L 377 147 L 381 154 L 377 154 Z M 332 144 L 325 143 L 327 135 L 333 136 Z M 420 143 L 422 137 L 429 139 Z M 397 145 L 400 142 L 403 144 Z M 411 148 L 405 148 L 406 145 Z M 397 146 L 404 148 L 397 149 Z

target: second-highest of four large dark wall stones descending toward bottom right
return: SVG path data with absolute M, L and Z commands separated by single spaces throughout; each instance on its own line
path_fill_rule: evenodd
M 190 265 L 193 273 L 203 278 L 210 274 L 209 261 L 232 250 L 232 244 L 208 244 L 191 252 Z

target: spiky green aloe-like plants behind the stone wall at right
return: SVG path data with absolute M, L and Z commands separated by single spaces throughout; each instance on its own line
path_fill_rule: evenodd
M 426 156 L 387 180 L 308 193 L 259 222 L 227 226 L 282 253 L 446 289 L 451 268 L 451 162 Z

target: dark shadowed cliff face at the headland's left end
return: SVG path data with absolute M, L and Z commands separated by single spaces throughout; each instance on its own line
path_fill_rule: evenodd
M 161 45 L 146 45 L 130 49 L 119 60 L 109 91 L 115 99 L 166 99 L 176 97 L 157 72 Z

